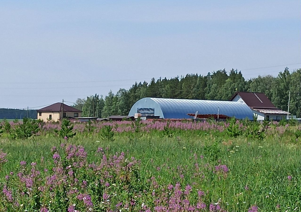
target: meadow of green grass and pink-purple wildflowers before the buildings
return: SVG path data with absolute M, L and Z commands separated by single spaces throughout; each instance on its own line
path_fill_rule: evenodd
M 301 210 L 296 123 L 10 125 L 0 211 Z

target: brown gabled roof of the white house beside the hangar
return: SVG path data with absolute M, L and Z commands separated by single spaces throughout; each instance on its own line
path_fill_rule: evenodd
M 264 93 L 236 92 L 230 101 L 232 101 L 236 95 L 240 95 L 250 108 L 278 109 Z

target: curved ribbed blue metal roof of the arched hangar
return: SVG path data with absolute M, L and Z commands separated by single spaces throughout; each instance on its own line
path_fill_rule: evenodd
M 223 114 L 237 119 L 248 117 L 253 120 L 253 111 L 244 102 L 216 101 L 216 100 L 194 100 L 194 99 L 168 99 L 168 98 L 143 98 L 142 104 L 152 100 L 162 110 L 163 118 L 189 118 L 187 114 Z M 135 104 L 136 104 L 135 103 Z M 133 107 L 135 106 L 133 105 Z M 219 109 L 218 109 L 219 108 Z M 132 110 L 131 110 L 132 111 Z

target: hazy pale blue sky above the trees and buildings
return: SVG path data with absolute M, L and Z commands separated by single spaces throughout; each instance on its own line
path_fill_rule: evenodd
M 277 76 L 285 66 L 253 68 L 301 67 L 300 6 L 299 0 L 2 0 L 0 108 L 74 102 L 152 77 L 224 68 L 242 70 L 247 79 Z

